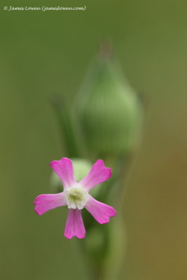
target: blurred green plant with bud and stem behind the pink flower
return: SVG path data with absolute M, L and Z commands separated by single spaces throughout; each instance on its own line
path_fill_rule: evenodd
M 104 160 L 113 176 L 93 191 L 97 200 L 115 206 L 118 211 L 124 193 L 123 180 L 141 138 L 143 110 L 139 96 L 127 82 L 111 50 L 102 47 L 88 69 L 74 104 L 67 106 L 61 99 L 53 104 L 62 132 L 64 156 L 76 162 L 76 176 L 83 179 L 92 162 L 97 158 Z M 59 181 L 52 176 L 53 188 L 57 190 Z M 125 251 L 120 211 L 102 229 L 87 213 L 83 216 L 87 237 L 79 242 L 92 279 L 118 279 L 116 275 Z

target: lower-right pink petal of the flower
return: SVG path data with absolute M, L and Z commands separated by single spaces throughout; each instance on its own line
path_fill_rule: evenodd
M 98 223 L 109 223 L 109 218 L 116 216 L 116 210 L 113 207 L 98 202 L 90 195 L 90 200 L 85 205 L 85 209 L 95 218 Z

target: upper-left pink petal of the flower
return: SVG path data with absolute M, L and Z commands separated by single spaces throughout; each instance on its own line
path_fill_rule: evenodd
M 54 160 L 50 162 L 50 167 L 56 172 L 56 174 L 62 180 L 64 188 L 74 186 L 76 181 L 74 179 L 74 167 L 69 158 L 62 158 L 61 160 Z

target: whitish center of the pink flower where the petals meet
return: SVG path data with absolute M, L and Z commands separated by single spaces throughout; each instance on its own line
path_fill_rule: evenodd
M 66 201 L 69 209 L 83 209 L 88 202 L 88 193 L 81 187 L 71 187 L 66 190 Z

